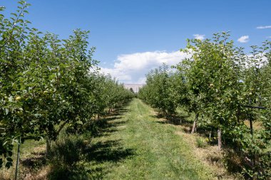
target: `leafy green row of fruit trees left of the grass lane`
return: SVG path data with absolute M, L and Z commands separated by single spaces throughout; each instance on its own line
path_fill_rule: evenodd
M 14 144 L 46 139 L 81 127 L 133 97 L 110 75 L 98 73 L 88 31 L 68 39 L 29 28 L 25 1 L 16 14 L 0 14 L 0 166 L 12 165 Z M 0 11 L 4 11 L 1 8 Z

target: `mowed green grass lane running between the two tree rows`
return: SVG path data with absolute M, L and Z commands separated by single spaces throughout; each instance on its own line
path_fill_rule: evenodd
M 88 164 L 93 179 L 215 179 L 176 127 L 142 101 L 134 99 L 108 125 L 93 139 L 93 156 L 100 157 Z

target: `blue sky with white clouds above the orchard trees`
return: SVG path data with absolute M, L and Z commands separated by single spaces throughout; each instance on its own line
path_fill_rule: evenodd
M 26 18 L 40 31 L 67 38 L 73 29 L 91 31 L 94 58 L 103 72 L 123 83 L 143 83 L 145 73 L 161 63 L 183 58 L 185 39 L 211 38 L 231 31 L 236 46 L 271 40 L 270 0 L 29 0 Z M 5 14 L 16 1 L 0 0 Z M 262 28 L 257 28 L 262 26 Z M 242 38 L 241 38 L 242 37 Z M 238 42 L 240 38 L 240 42 Z

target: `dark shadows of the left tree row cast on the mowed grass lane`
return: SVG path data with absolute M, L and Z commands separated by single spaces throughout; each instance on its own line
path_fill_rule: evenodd
M 110 136 L 120 131 L 121 129 L 118 129 L 118 127 L 126 124 L 126 120 L 120 120 L 121 116 L 128 111 L 125 107 L 116 110 L 113 116 L 117 117 L 106 119 L 106 126 L 101 129 L 99 136 Z M 85 162 L 91 164 L 88 169 L 91 179 L 103 179 L 111 171 L 111 168 L 108 167 L 108 162 L 113 163 L 113 166 L 118 166 L 117 162 L 133 156 L 135 152 L 133 149 L 123 147 L 122 139 L 110 139 L 89 144 L 84 149 L 83 154 L 85 154 Z

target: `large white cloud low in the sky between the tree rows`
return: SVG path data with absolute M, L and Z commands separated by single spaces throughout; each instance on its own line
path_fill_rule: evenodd
M 118 55 L 113 68 L 101 68 L 101 72 L 111 74 L 121 83 L 145 83 L 145 74 L 151 69 L 157 68 L 159 65 L 166 63 L 168 65 L 176 65 L 184 58 L 190 55 L 173 51 L 171 53 L 165 51 L 154 51 L 144 53 L 132 53 Z

